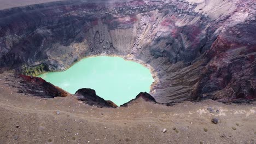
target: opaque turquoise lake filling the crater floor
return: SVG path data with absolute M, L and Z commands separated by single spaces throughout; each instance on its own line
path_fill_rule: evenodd
M 80 88 L 95 89 L 98 96 L 117 105 L 135 98 L 139 92 L 149 92 L 154 81 L 143 65 L 108 56 L 84 58 L 66 71 L 38 77 L 72 94 Z

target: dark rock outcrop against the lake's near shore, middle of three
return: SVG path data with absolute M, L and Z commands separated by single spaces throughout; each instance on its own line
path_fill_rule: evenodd
M 83 101 L 83 103 L 88 105 L 94 105 L 97 107 L 118 107 L 112 101 L 110 100 L 106 101 L 103 98 L 98 97 L 94 89 L 90 89 L 90 88 L 78 89 L 78 91 L 75 92 L 74 95 L 79 101 Z

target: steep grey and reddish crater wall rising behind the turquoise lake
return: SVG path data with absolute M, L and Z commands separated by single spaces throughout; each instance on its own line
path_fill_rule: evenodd
M 91 55 L 140 59 L 158 103 L 256 98 L 252 0 L 61 1 L 0 11 L 0 70 L 59 71 Z

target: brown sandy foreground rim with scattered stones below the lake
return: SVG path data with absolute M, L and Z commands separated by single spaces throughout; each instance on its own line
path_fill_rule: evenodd
M 1 144 L 256 143 L 253 104 L 206 100 L 165 106 L 138 99 L 129 107 L 101 109 L 73 97 L 41 99 L 16 93 L 6 80 L 9 75 L 0 74 Z M 207 107 L 220 112 L 210 113 Z M 218 124 L 211 122 L 215 117 Z

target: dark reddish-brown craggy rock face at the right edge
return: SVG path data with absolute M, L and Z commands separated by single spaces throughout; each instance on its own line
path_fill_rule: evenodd
M 206 53 L 210 59 L 207 71 L 211 72 L 204 82 L 207 85 L 202 88 L 203 95 L 222 101 L 256 99 L 255 52 L 254 46 L 231 43 L 218 37 Z

